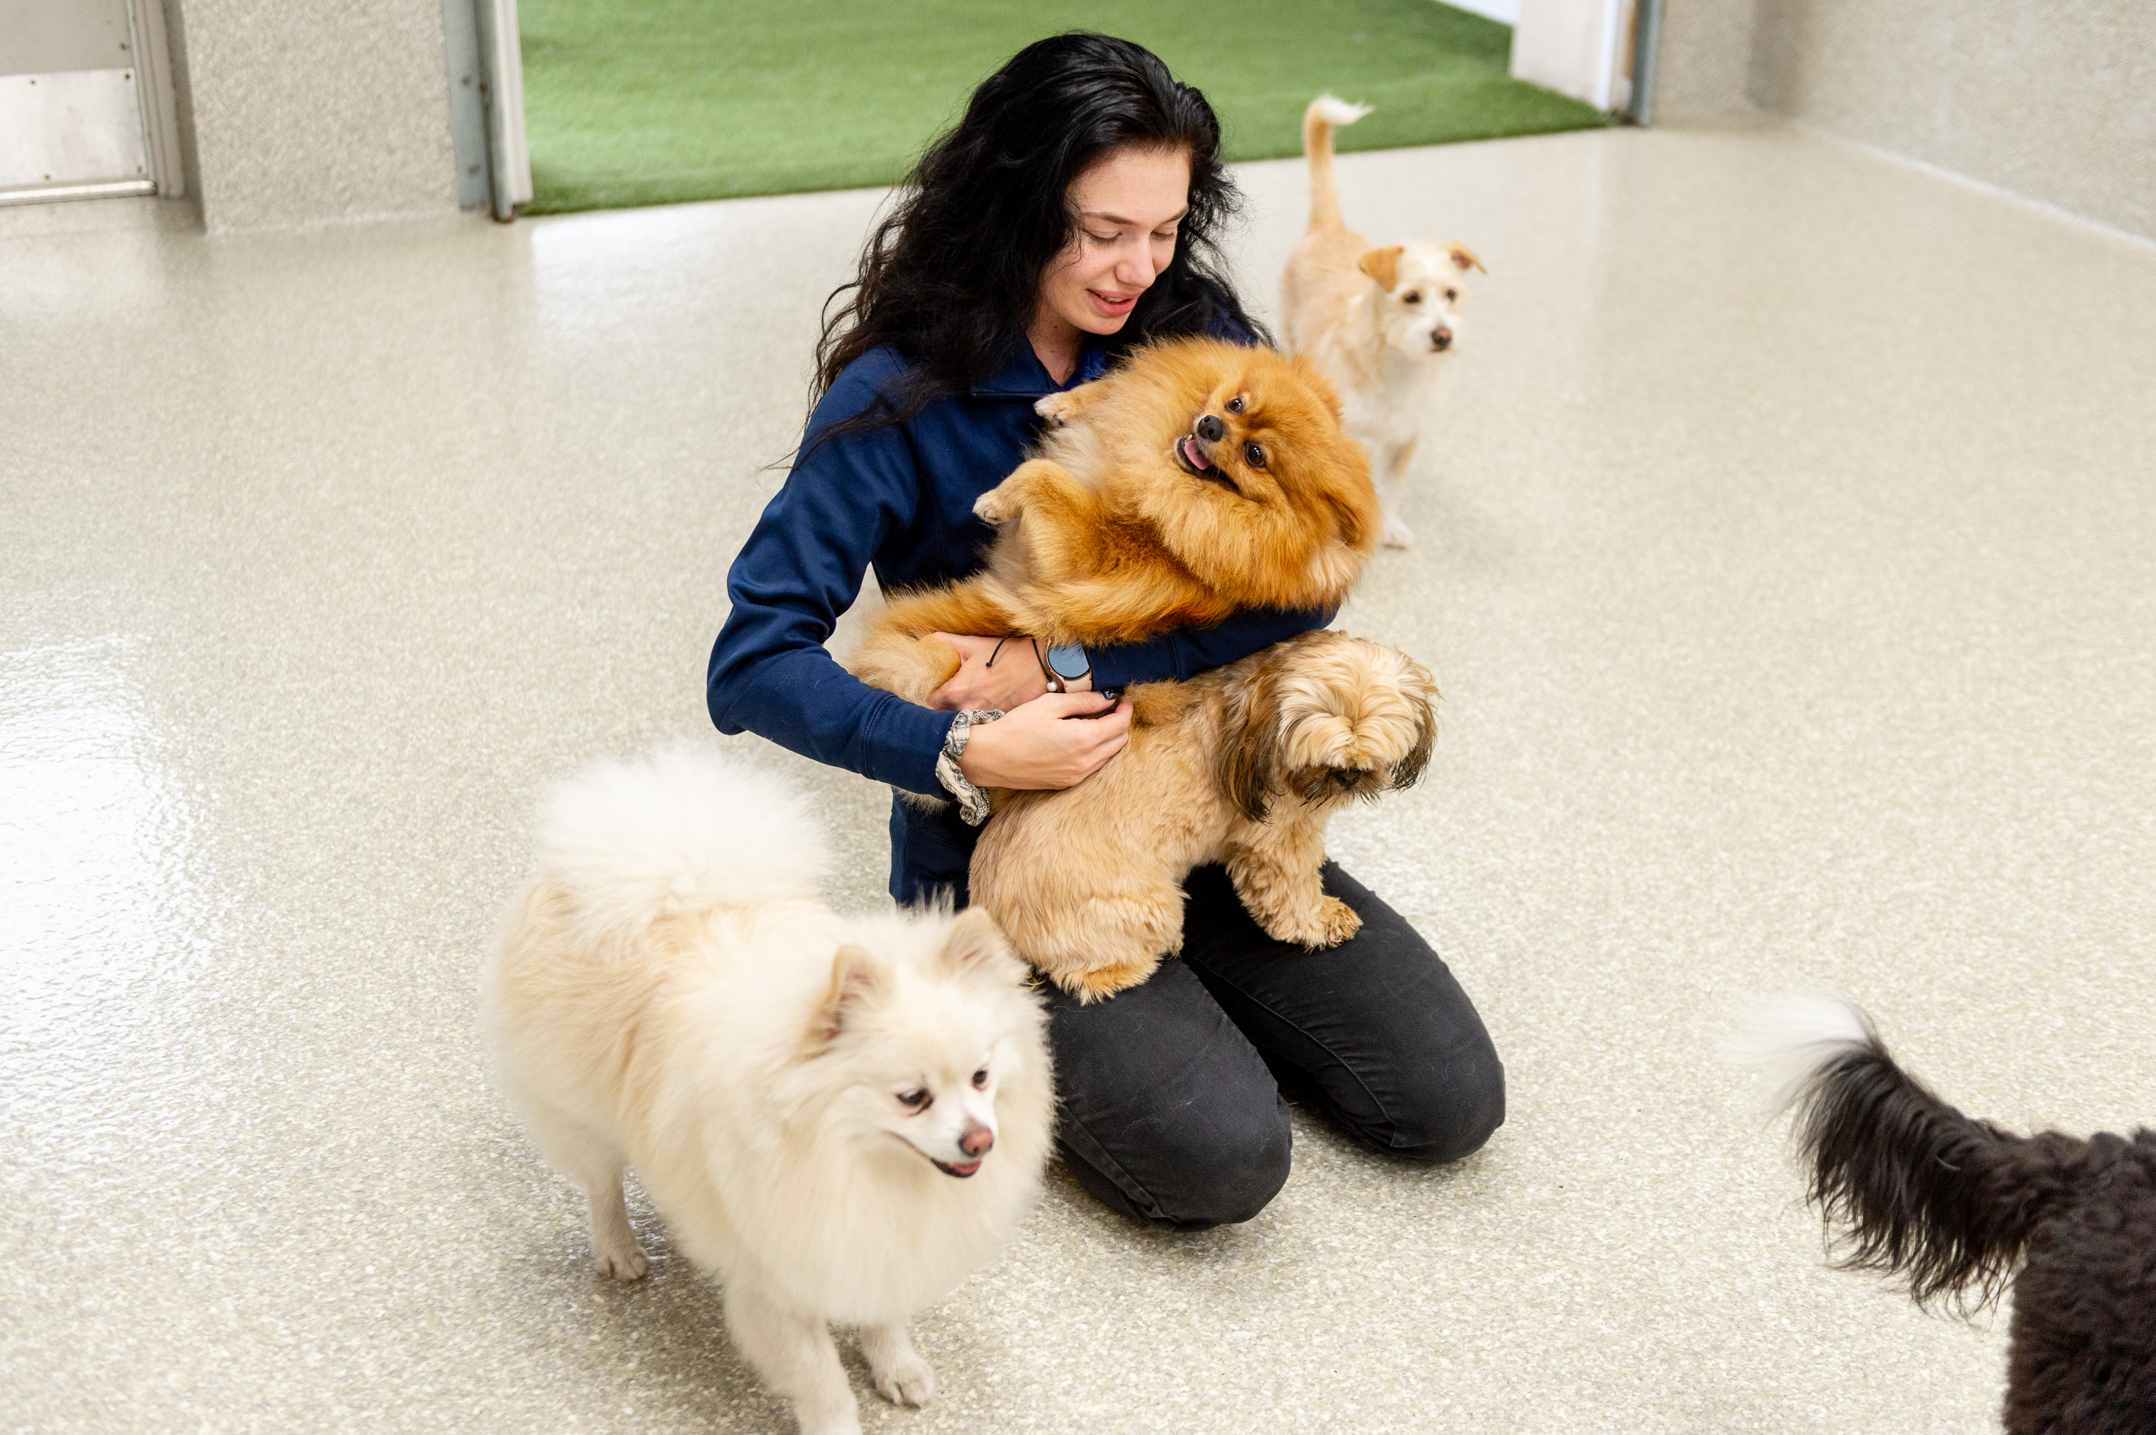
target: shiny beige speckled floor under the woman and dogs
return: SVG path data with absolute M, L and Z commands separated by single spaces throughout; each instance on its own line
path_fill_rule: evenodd
M 1203 1236 L 1054 1176 L 869 1426 L 1994 1426 L 1992 1325 L 1822 1267 L 1708 1038 L 1818 978 L 1973 1111 L 2156 1118 L 2156 250 L 1787 129 L 1341 179 L 1492 270 L 1343 617 L 1440 762 L 1335 850 L 1511 1120 L 1298 1118 Z M 1270 302 L 1302 173 L 1244 183 Z M 472 969 L 541 785 L 707 734 L 875 203 L 0 240 L 0 1429 L 783 1429 L 681 1260 L 589 1269 Z M 880 900 L 882 792 L 772 760 Z

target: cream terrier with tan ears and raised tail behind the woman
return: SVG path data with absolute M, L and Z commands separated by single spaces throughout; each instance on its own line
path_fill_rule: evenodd
M 1341 220 L 1332 183 L 1332 125 L 1352 125 L 1367 106 L 1319 95 L 1302 112 L 1311 166 L 1311 224 L 1281 276 L 1281 337 L 1341 391 L 1341 425 L 1369 453 L 1384 501 L 1384 544 L 1406 548 L 1399 483 L 1447 358 L 1460 350 L 1460 304 L 1481 259 L 1466 244 L 1388 244 Z

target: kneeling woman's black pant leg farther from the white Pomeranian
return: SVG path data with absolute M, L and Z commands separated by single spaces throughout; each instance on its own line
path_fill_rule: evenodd
M 1416 1161 L 1477 1150 L 1505 1122 L 1505 1066 L 1475 1003 L 1363 883 L 1326 863 L 1324 885 L 1363 930 L 1304 952 L 1266 937 L 1225 870 L 1199 867 L 1184 883 L 1184 965 L 1289 1090 L 1365 1146 Z

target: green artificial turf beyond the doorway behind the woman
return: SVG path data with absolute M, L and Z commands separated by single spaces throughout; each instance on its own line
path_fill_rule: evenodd
M 1231 160 L 1302 149 L 1319 91 L 1376 106 L 1339 147 L 1585 129 L 1505 73 L 1511 30 L 1434 0 L 522 0 L 530 214 L 893 183 L 1044 35 L 1134 39 L 1214 101 Z

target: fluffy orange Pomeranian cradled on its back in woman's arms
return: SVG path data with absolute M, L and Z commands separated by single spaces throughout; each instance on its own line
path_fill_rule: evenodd
M 925 703 L 959 669 L 936 632 L 1104 645 L 1332 606 L 1378 548 L 1369 464 L 1309 360 L 1177 339 L 1035 408 L 1037 457 L 972 509 L 987 565 L 893 593 L 847 660 L 862 682 Z

